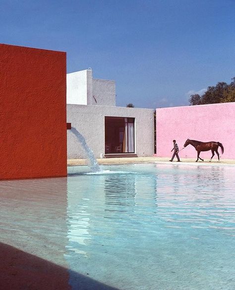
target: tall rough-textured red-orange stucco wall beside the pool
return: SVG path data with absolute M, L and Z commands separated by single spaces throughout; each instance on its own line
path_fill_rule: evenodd
M 0 179 L 65 176 L 66 54 L 0 44 Z

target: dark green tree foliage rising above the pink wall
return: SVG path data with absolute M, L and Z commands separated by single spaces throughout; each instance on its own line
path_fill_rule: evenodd
M 216 86 L 208 87 L 202 95 L 194 94 L 190 96 L 190 105 L 205 105 L 215 103 L 235 102 L 235 77 L 232 82 L 218 82 Z

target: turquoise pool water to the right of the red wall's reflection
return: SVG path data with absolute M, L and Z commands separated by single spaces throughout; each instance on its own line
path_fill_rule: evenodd
M 69 168 L 67 181 L 72 289 L 95 289 L 77 272 L 99 289 L 235 289 L 235 167 L 86 170 Z

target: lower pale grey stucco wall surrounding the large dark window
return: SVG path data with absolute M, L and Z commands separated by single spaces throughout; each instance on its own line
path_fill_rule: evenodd
M 67 105 L 67 122 L 85 138 L 96 158 L 105 153 L 105 116 L 135 118 L 135 153 L 154 153 L 154 110 L 108 106 Z M 67 130 L 67 158 L 86 158 L 76 137 Z

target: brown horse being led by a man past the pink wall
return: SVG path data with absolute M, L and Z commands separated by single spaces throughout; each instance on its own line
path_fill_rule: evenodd
M 220 161 L 220 155 L 219 155 L 219 152 L 218 152 L 218 147 L 219 146 L 221 147 L 221 153 L 222 154 L 224 153 L 224 147 L 223 147 L 223 145 L 220 142 L 214 142 L 214 141 L 201 142 L 201 141 L 187 139 L 186 142 L 184 143 L 183 147 L 186 147 L 189 144 L 192 145 L 197 151 L 197 160 L 196 160 L 196 162 L 198 161 L 198 158 L 201 159 L 199 157 L 199 154 L 200 154 L 201 151 L 209 151 L 209 150 L 211 150 L 212 157 L 211 157 L 210 161 L 212 160 L 213 156 L 215 155 L 215 152 L 218 155 L 218 160 Z M 203 159 L 201 159 L 201 160 L 204 161 Z

